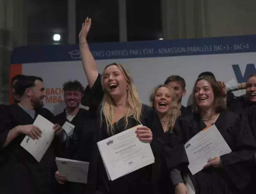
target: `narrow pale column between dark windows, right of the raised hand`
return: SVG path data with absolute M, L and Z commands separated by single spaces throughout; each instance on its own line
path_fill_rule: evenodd
M 118 0 L 119 12 L 119 41 L 127 41 L 127 24 L 126 24 L 126 0 Z

